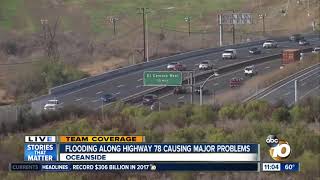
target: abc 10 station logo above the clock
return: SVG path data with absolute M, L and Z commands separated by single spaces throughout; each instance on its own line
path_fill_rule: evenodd
M 269 135 L 266 143 L 270 147 L 269 154 L 274 160 L 281 161 L 290 156 L 291 148 L 287 141 L 279 140 L 275 135 Z

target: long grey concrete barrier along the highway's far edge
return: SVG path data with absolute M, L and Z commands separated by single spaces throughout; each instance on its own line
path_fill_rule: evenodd
M 306 36 L 308 38 L 313 38 L 313 37 L 318 37 L 318 35 L 309 35 Z M 275 38 L 276 41 L 278 42 L 283 42 L 287 41 L 287 37 L 280 37 L 280 38 Z M 134 71 L 139 71 L 143 70 L 146 68 L 151 68 L 151 67 L 157 67 L 163 64 L 167 64 L 173 61 L 181 61 L 185 58 L 191 58 L 191 57 L 196 57 L 196 56 L 203 56 L 209 53 L 215 53 L 219 52 L 221 50 L 224 50 L 226 48 L 244 48 L 244 47 L 249 47 L 249 46 L 254 46 L 254 45 L 260 45 L 264 42 L 265 40 L 259 40 L 259 41 L 254 41 L 254 42 L 249 42 L 249 43 L 240 43 L 240 44 L 235 44 L 235 45 L 228 45 L 228 46 L 223 46 L 219 48 L 208 48 L 208 49 L 200 49 L 196 51 L 191 51 L 191 52 L 185 52 L 185 53 L 180 53 L 176 54 L 173 56 L 168 56 L 168 57 L 163 57 L 155 60 L 151 60 L 150 62 L 144 62 L 144 63 L 139 63 L 136 65 L 131 65 L 127 66 L 124 68 L 108 71 L 106 73 L 97 75 L 97 76 L 92 76 L 84 79 L 80 79 L 77 81 L 73 81 L 64 85 L 56 86 L 51 89 L 49 89 L 49 94 L 50 95 L 59 95 L 65 92 L 71 92 L 76 89 L 82 89 L 84 87 L 88 87 L 100 82 L 105 81 L 106 79 L 112 79 L 124 74 L 128 74 L 130 72 Z

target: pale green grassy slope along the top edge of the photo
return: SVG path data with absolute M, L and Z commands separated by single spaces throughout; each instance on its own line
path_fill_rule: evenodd
M 131 25 L 138 22 L 137 8 L 148 7 L 150 25 L 158 26 L 159 19 L 168 27 L 185 26 L 184 17 L 191 16 L 194 24 L 199 24 L 205 16 L 217 10 L 239 9 L 247 0 L 201 0 L 201 1 L 169 1 L 169 0 L 2 0 L 0 2 L 0 28 L 19 32 L 34 32 L 40 28 L 41 18 L 60 14 L 66 29 L 77 27 L 85 21 L 86 31 L 94 33 L 110 33 L 112 28 L 108 16 L 121 17 L 120 21 Z M 36 10 L 36 12 L 35 12 Z M 122 24 L 122 23 L 119 23 Z M 84 24 L 83 24 L 84 25 Z M 125 25 L 124 25 L 125 27 Z M 74 30 L 74 29 L 73 29 Z

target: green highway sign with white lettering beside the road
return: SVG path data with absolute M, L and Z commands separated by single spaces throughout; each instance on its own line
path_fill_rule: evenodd
M 182 72 L 179 71 L 145 71 L 144 86 L 181 86 Z

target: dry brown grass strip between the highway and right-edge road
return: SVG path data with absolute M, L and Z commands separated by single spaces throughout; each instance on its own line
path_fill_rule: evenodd
M 257 91 L 270 86 L 271 84 L 305 69 L 314 64 L 320 63 L 319 56 L 310 56 L 302 62 L 288 64 L 284 69 L 277 69 L 264 75 L 259 75 L 246 81 L 239 89 L 230 89 L 215 98 L 220 104 L 241 102 L 244 98 L 255 94 Z

